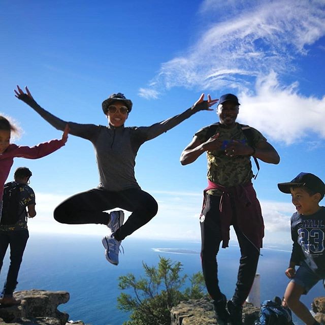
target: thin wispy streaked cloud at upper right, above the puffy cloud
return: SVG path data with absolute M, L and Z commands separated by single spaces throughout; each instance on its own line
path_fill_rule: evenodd
M 161 64 L 151 81 L 159 92 L 181 86 L 248 90 L 254 78 L 293 71 L 293 59 L 325 34 L 324 2 L 207 0 L 201 13 L 215 13 L 214 23 L 184 55 Z M 220 20 L 220 17 L 223 21 Z M 248 81 L 247 76 L 252 79 Z M 148 92 L 149 89 L 146 89 Z

